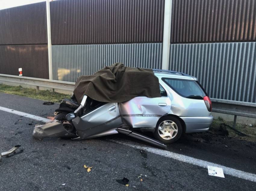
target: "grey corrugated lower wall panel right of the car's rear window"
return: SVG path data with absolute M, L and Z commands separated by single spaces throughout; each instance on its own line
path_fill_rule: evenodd
M 256 102 L 256 42 L 171 44 L 169 69 L 198 78 L 210 97 Z

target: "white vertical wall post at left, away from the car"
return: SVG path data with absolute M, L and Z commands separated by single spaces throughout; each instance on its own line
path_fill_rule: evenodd
M 46 0 L 46 20 L 47 20 L 47 39 L 48 39 L 48 69 L 49 69 L 49 79 L 53 79 L 53 70 L 52 70 L 51 16 L 50 16 L 50 2 L 49 2 L 49 0 Z

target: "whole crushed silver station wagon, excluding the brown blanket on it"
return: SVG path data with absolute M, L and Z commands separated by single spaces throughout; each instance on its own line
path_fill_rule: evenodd
M 165 148 L 163 143 L 177 141 L 183 132 L 207 131 L 213 121 L 211 100 L 197 79 L 169 70 L 154 70 L 154 75 L 160 97 L 136 96 L 124 102 L 105 103 L 83 95 L 78 104 L 73 95 L 56 109 L 55 121 L 36 126 L 33 136 L 80 140 L 123 133 Z M 134 130 L 152 131 L 158 141 Z

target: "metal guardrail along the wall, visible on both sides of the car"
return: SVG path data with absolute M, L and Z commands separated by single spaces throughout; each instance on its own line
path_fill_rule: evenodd
M 24 76 L 12 76 L 0 74 L 0 83 L 12 83 L 13 85 L 30 85 L 39 91 L 39 87 L 50 88 L 52 91 L 65 90 L 73 92 L 74 82 L 63 82 L 58 80 L 39 79 Z M 236 116 L 244 116 L 256 118 L 256 103 L 247 103 L 241 101 L 222 100 L 211 98 L 213 112 L 234 115 L 234 125 L 236 124 Z

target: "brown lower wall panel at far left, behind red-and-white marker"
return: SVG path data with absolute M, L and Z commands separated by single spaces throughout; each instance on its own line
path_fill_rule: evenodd
M 47 45 L 1 45 L 0 73 L 48 79 Z

